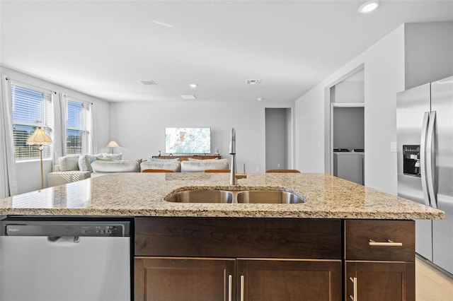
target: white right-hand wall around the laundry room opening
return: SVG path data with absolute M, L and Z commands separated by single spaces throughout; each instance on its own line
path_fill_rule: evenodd
M 396 194 L 396 93 L 404 90 L 404 26 L 328 76 L 296 101 L 296 167 L 328 170 L 330 88 L 365 68 L 365 182 Z M 327 137 L 326 137 L 327 136 Z M 327 148 L 327 149 L 326 149 Z

